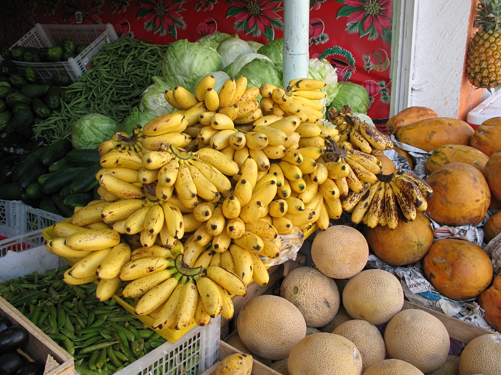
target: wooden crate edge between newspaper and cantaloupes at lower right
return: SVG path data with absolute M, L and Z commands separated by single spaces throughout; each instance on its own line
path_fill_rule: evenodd
M 417 308 L 419 310 L 423 310 L 432 314 L 433 316 L 438 318 L 443 323 L 443 325 L 445 325 L 445 328 L 447 328 L 447 332 L 449 332 L 450 337 L 455 338 L 456 340 L 459 340 L 463 343 L 468 343 L 473 338 L 481 336 L 482 334 L 492 333 L 492 331 L 488 329 L 473 325 L 463 320 L 459 320 L 458 318 L 445 315 L 441 312 L 431 310 L 409 301 L 404 301 L 402 310 L 409 308 Z

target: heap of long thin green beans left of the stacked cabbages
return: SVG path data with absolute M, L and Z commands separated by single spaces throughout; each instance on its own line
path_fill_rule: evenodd
M 73 123 L 88 113 L 104 114 L 120 123 L 139 104 L 152 76 L 161 75 L 163 47 L 128 36 L 105 45 L 80 81 L 68 86 L 67 94 L 75 98 L 69 103 L 61 99 L 60 109 L 33 126 L 34 137 L 48 143 L 68 138 Z

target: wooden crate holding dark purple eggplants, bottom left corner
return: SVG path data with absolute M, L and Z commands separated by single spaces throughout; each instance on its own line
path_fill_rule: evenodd
M 47 356 L 51 355 L 59 364 L 45 375 L 75 374 L 73 357 L 2 297 L 0 297 L 0 315 L 8 319 L 12 325 L 24 327 L 28 331 L 29 338 L 24 351 L 33 360 L 46 363 Z

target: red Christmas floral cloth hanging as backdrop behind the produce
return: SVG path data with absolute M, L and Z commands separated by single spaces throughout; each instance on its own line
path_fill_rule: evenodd
M 152 43 L 195 41 L 221 31 L 266 43 L 283 36 L 275 0 L 4 0 L 0 40 L 14 43 L 39 23 L 112 23 L 119 35 Z M 339 80 L 364 85 L 368 114 L 389 113 L 393 0 L 310 0 L 310 55 L 327 58 Z

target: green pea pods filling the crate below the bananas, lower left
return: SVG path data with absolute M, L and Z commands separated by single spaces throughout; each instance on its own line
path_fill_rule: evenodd
M 0 296 L 73 355 L 81 375 L 111 375 L 166 342 L 115 299 L 99 302 L 95 284 L 66 284 L 68 268 L 2 282 Z

